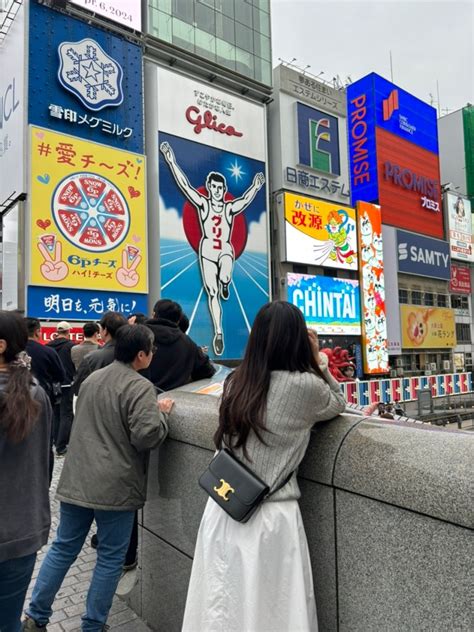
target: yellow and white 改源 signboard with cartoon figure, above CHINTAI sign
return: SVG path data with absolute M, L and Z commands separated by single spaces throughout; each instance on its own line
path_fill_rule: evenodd
M 357 270 L 355 210 L 284 193 L 286 261 Z

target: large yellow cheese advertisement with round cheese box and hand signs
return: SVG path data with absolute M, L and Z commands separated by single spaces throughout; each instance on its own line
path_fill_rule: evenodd
M 31 128 L 30 283 L 147 292 L 145 157 Z

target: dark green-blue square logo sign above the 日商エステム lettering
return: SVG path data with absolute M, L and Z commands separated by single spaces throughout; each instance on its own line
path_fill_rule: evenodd
M 340 175 L 339 124 L 335 116 L 297 103 L 299 162 Z

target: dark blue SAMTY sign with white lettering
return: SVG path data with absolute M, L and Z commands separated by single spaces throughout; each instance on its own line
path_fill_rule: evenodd
M 398 271 L 449 281 L 451 261 L 447 241 L 397 230 Z

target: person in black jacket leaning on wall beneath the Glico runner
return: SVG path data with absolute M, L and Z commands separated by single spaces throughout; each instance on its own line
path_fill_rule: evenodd
M 178 303 L 162 299 L 155 304 L 153 318 L 146 322 L 155 336 L 157 350 L 145 377 L 163 391 L 215 373 L 209 357 L 179 328 L 182 315 Z

